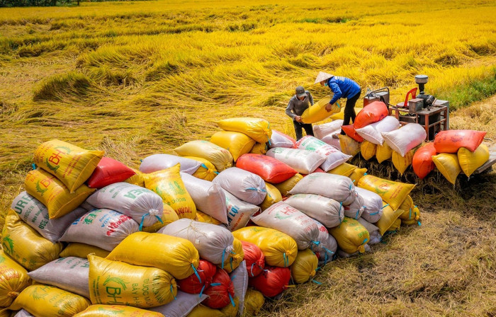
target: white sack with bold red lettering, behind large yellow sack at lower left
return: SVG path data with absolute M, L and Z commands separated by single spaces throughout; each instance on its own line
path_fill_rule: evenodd
M 140 230 L 133 218 L 111 209 L 94 209 L 76 219 L 60 241 L 86 243 L 111 251 L 125 237 Z

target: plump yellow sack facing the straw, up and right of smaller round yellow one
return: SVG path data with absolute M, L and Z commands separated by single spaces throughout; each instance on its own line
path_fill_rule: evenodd
M 365 244 L 370 240 L 367 229 L 355 219 L 344 217 L 339 226 L 329 229 L 339 248 L 346 253 L 365 252 Z

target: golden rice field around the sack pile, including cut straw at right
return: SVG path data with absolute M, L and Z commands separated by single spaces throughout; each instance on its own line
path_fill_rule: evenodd
M 208 139 L 225 117 L 264 117 L 293 134 L 283 110 L 295 86 L 328 93 L 312 86 L 320 70 L 362 91 L 389 86 L 392 103 L 427 74 L 427 91 L 451 102 L 451 127 L 495 142 L 495 65 L 490 0 L 0 8 L 0 222 L 41 142 L 104 149 L 137 167 Z M 322 285 L 289 289 L 261 316 L 496 316 L 495 172 L 454 188 L 434 175 L 412 197 L 422 226 L 334 261 L 317 274 Z

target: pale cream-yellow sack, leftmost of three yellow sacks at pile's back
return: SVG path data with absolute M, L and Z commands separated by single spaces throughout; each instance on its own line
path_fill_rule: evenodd
M 232 155 L 230 152 L 212 142 L 201 140 L 190 141 L 176 147 L 174 151 L 180 156 L 201 157 L 213 163 L 215 169 L 219 172 L 232 166 Z

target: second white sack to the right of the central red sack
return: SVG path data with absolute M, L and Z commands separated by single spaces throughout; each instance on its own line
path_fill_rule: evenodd
M 342 163 L 348 161 L 353 157 L 351 155 L 344 154 L 342 151 L 334 149 L 334 147 L 321 141 L 320 139 L 317 139 L 316 137 L 303 137 L 296 144 L 298 145 L 298 149 L 315 151 L 318 154 L 324 155 L 326 157 L 326 160 L 324 161 L 324 163 L 322 163 L 320 168 L 322 168 L 326 172 L 332 170 L 332 168 L 341 165 Z

